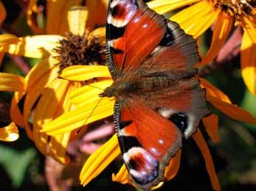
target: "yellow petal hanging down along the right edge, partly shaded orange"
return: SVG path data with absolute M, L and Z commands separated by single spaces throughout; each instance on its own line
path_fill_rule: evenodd
M 241 45 L 241 70 L 243 81 L 252 94 L 256 94 L 256 27 L 243 17 Z

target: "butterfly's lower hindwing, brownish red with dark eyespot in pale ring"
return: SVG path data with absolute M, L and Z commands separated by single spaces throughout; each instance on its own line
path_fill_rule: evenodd
M 196 78 L 179 80 L 171 87 L 161 90 L 161 93 L 148 93 L 145 103 L 159 115 L 175 123 L 186 139 L 198 129 L 201 118 L 210 114 L 205 101 L 205 90 L 200 87 Z

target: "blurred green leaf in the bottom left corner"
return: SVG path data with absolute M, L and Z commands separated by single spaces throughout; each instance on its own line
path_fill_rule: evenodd
M 17 151 L 13 148 L 0 145 L 0 165 L 4 167 L 6 173 L 13 182 L 13 187 L 17 188 L 24 181 L 27 167 L 35 158 L 36 151 L 29 148 L 24 151 Z

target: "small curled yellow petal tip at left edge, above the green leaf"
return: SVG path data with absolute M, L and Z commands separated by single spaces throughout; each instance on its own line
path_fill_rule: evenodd
M 18 128 L 15 123 L 10 123 L 9 126 L 0 128 L 0 140 L 15 141 L 18 139 Z

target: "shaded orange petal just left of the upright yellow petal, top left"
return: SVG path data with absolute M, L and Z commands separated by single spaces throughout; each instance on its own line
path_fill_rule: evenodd
M 49 0 L 46 4 L 47 23 L 46 33 L 50 35 L 65 35 L 69 32 L 68 10 L 71 7 L 79 6 L 82 0 Z

